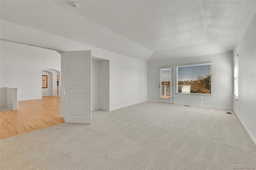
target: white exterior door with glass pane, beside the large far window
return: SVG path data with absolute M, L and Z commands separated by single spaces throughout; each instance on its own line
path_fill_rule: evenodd
M 158 102 L 173 103 L 173 69 L 158 68 Z

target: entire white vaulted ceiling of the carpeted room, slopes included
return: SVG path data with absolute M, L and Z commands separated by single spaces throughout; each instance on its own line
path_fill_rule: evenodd
M 146 61 L 233 51 L 256 12 L 249 0 L 72 2 L 1 1 L 1 19 Z

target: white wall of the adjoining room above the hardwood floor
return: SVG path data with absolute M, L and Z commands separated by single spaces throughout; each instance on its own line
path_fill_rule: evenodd
M 42 99 L 42 70 L 60 70 L 60 54 L 1 40 L 1 107 L 6 106 L 4 87 L 18 88 L 18 101 Z

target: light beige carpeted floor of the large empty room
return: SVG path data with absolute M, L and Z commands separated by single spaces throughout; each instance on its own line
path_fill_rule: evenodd
M 0 140 L 0 169 L 230 169 L 256 146 L 227 110 L 145 102 Z

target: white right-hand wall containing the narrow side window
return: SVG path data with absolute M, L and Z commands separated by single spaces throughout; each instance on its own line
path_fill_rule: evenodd
M 239 77 L 234 111 L 256 144 L 256 14 L 234 49 L 236 54 Z

